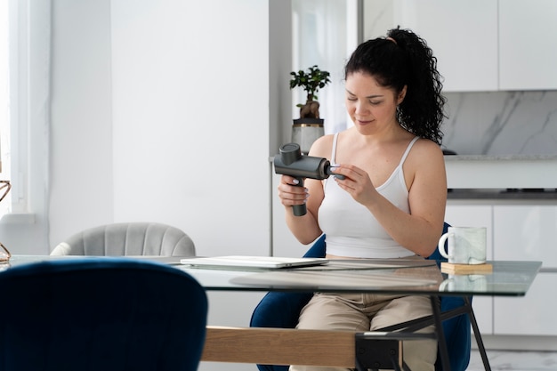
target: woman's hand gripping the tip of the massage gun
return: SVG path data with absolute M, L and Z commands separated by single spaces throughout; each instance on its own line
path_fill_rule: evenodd
M 331 167 L 331 172 L 344 175 L 344 179 L 335 176 L 335 181 L 354 200 L 364 206 L 373 202 L 377 191 L 367 172 L 354 165 L 335 165 Z

